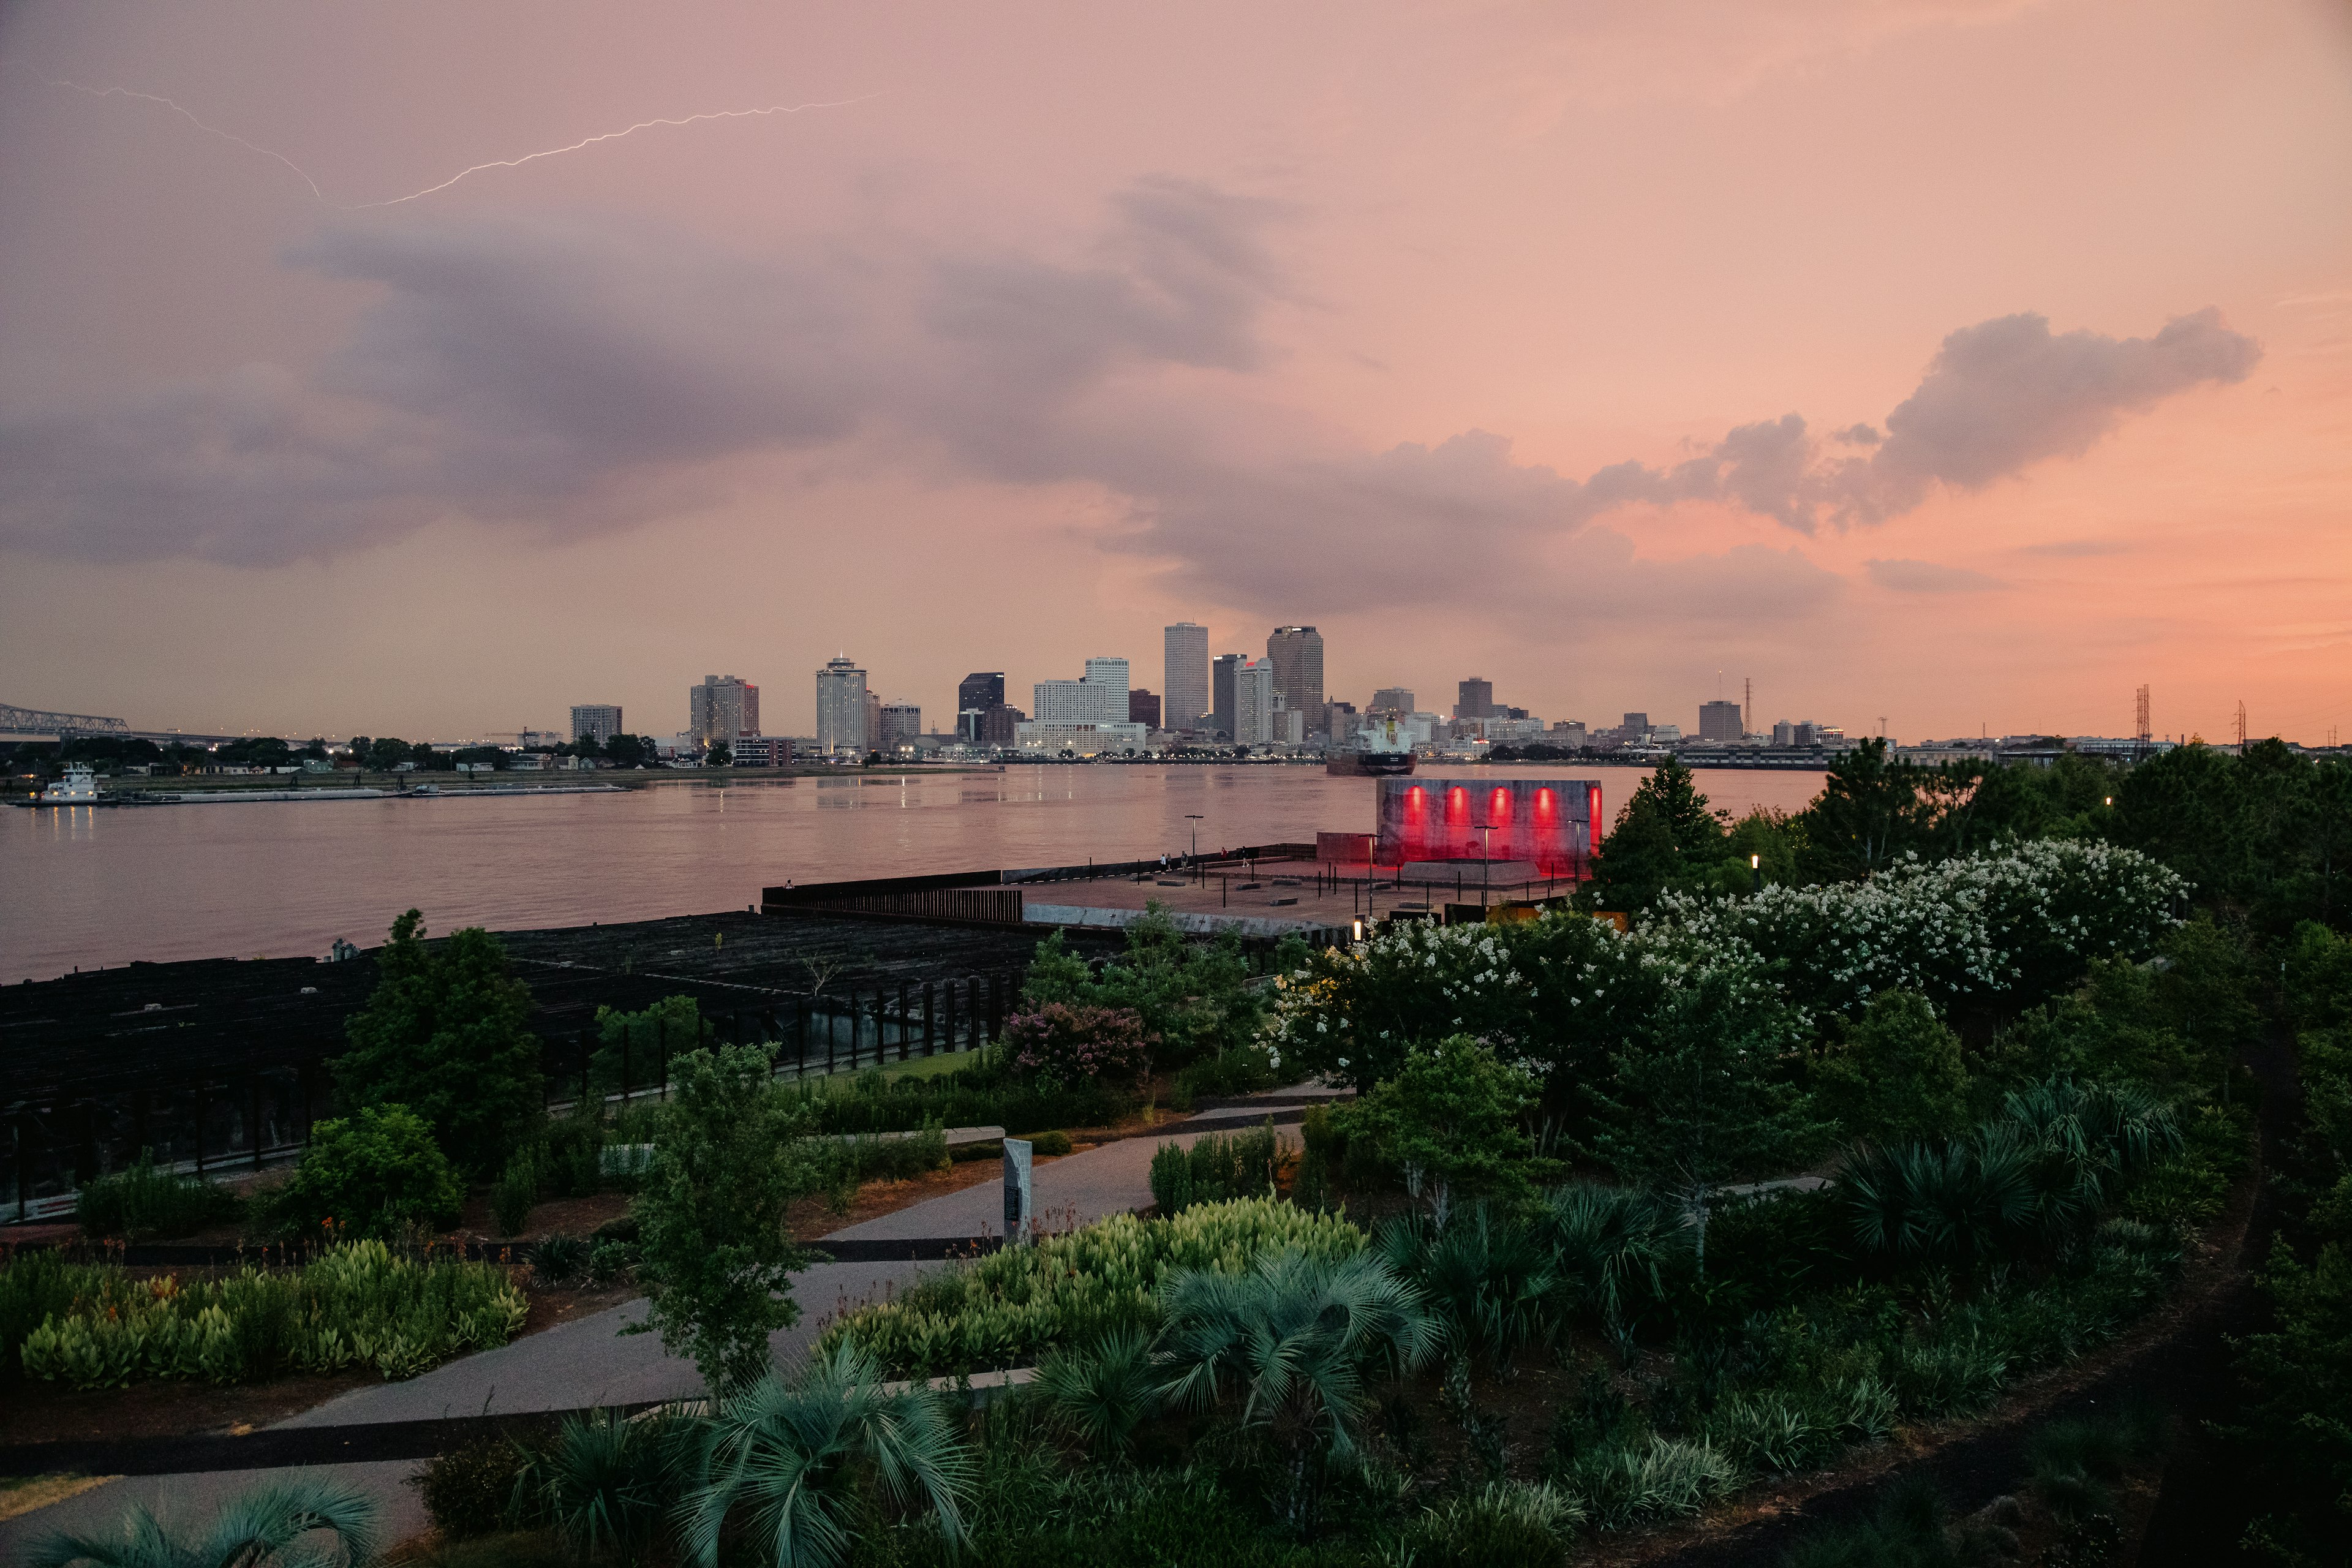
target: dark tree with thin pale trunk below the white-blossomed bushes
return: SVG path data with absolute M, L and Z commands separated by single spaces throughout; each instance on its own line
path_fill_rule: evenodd
M 1630 1178 L 1682 1194 L 1708 1262 L 1715 1190 L 1771 1173 L 1823 1131 L 1788 1077 L 1797 1020 L 1757 976 L 1731 964 L 1686 966 L 1665 980 L 1616 1074 L 1592 1091 L 1606 1121 L 1590 1152 Z

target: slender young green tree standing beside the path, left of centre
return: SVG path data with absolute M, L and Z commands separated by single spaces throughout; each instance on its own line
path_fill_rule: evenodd
M 767 1368 L 767 1335 L 800 1321 L 790 1276 L 809 1253 L 786 1229 L 826 1178 L 802 1138 L 814 1107 L 786 1103 L 767 1046 L 689 1051 L 670 1063 L 670 1105 L 637 1197 L 644 1328 L 715 1394 Z

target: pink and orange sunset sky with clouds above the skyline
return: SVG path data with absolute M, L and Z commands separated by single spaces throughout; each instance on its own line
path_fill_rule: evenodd
M 2352 7 L 0 9 L 0 701 L 2352 731 Z

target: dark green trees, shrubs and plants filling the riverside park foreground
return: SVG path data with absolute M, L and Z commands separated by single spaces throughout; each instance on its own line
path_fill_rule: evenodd
M 353 1018 L 341 1131 L 247 1222 L 332 1204 L 350 1239 L 308 1267 L 360 1272 L 402 1262 L 369 1234 L 414 1246 L 468 1190 L 513 1229 L 628 1194 L 541 1244 L 539 1284 L 635 1276 L 710 1406 L 433 1460 L 414 1561 L 1632 1563 L 1837 1495 L 1766 1530 L 1788 1566 L 2103 1563 L 2201 1486 L 2206 1561 L 2343 1563 L 2347 858 L 2352 771 L 2274 743 L 2049 769 L 1865 743 L 1804 811 L 1740 820 L 1668 762 L 1573 910 L 1265 961 L 1152 914 L 1108 957 L 1044 943 L 978 1063 L 795 1088 L 757 1046 L 687 1051 L 673 1105 L 553 1121 L 494 938 L 412 914 Z M 1044 1147 L 1301 1079 L 1355 1095 L 1296 1140 L 1164 1145 L 1152 1211 L 950 1265 L 764 1363 L 800 1314 L 788 1215 L 950 1164 L 941 1128 L 995 1112 Z M 106 1201 L 125 1227 L 202 1208 L 153 1173 Z M 2216 1342 L 2241 1234 L 2251 1331 Z M 0 1302 L 38 1295 L 9 1295 L 26 1267 Z M 5 1319 L 7 1373 L 108 1375 L 115 1331 L 68 1331 L 99 1302 L 176 1314 L 82 1281 Z M 2183 1335 L 2225 1359 L 2216 1394 L 2089 1401 Z M 950 1382 L 882 1387 L 910 1375 Z M 1978 1436 L 2006 1490 L 1957 1497 L 1936 1455 Z

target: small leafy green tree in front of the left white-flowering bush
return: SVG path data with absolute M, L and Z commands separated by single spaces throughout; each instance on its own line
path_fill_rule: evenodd
M 1519 1119 L 1534 1105 L 1534 1077 L 1505 1065 L 1494 1046 L 1454 1034 L 1406 1051 L 1395 1077 L 1336 1114 L 1350 1143 L 1369 1140 L 1395 1166 L 1465 1192 L 1519 1192 L 1536 1152 Z

